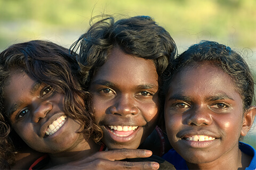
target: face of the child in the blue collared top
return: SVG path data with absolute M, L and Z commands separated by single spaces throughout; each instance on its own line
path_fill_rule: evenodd
M 174 75 L 165 99 L 168 138 L 187 162 L 237 155 L 243 101 L 228 74 L 209 63 L 186 67 Z

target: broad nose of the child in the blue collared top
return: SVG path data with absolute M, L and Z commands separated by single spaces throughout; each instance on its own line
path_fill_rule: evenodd
M 212 116 L 210 109 L 207 106 L 195 106 L 189 111 L 186 123 L 188 125 L 210 125 L 212 123 Z

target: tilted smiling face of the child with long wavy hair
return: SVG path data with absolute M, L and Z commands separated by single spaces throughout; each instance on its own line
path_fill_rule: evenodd
M 64 96 L 50 86 L 20 72 L 12 74 L 4 92 L 4 107 L 11 115 L 13 129 L 31 148 L 49 153 L 67 151 L 83 139 L 82 133 L 76 133 L 80 124 L 63 113 Z

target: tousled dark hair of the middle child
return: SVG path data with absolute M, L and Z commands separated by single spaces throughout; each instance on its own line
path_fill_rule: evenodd
M 82 84 L 85 89 L 90 86 L 98 67 L 107 61 L 114 47 L 119 47 L 126 54 L 153 60 L 158 75 L 172 62 L 177 47 L 169 32 L 150 16 L 134 16 L 117 21 L 110 15 L 95 18 L 100 17 L 103 19 L 90 24 L 89 30 L 70 47 L 73 52 L 80 48 L 77 60 L 82 64 Z

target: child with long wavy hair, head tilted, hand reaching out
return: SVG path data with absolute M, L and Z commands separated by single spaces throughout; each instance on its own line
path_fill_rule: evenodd
M 102 130 L 94 123 L 91 95 L 81 88 L 78 70 L 68 49 L 48 41 L 14 44 L 0 54 L 2 169 L 10 168 L 15 151 L 26 146 L 47 153 L 29 169 L 125 169 L 126 162 L 113 160 L 151 155 L 128 149 L 97 154 Z M 151 162 L 128 165 L 158 167 Z

